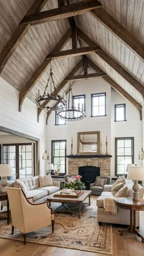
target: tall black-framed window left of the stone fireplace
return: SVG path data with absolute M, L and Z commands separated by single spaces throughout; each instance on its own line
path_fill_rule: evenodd
M 52 147 L 52 163 L 54 164 L 54 169 L 59 170 L 59 175 L 66 174 L 67 167 L 67 141 L 66 140 L 57 140 L 51 141 Z

